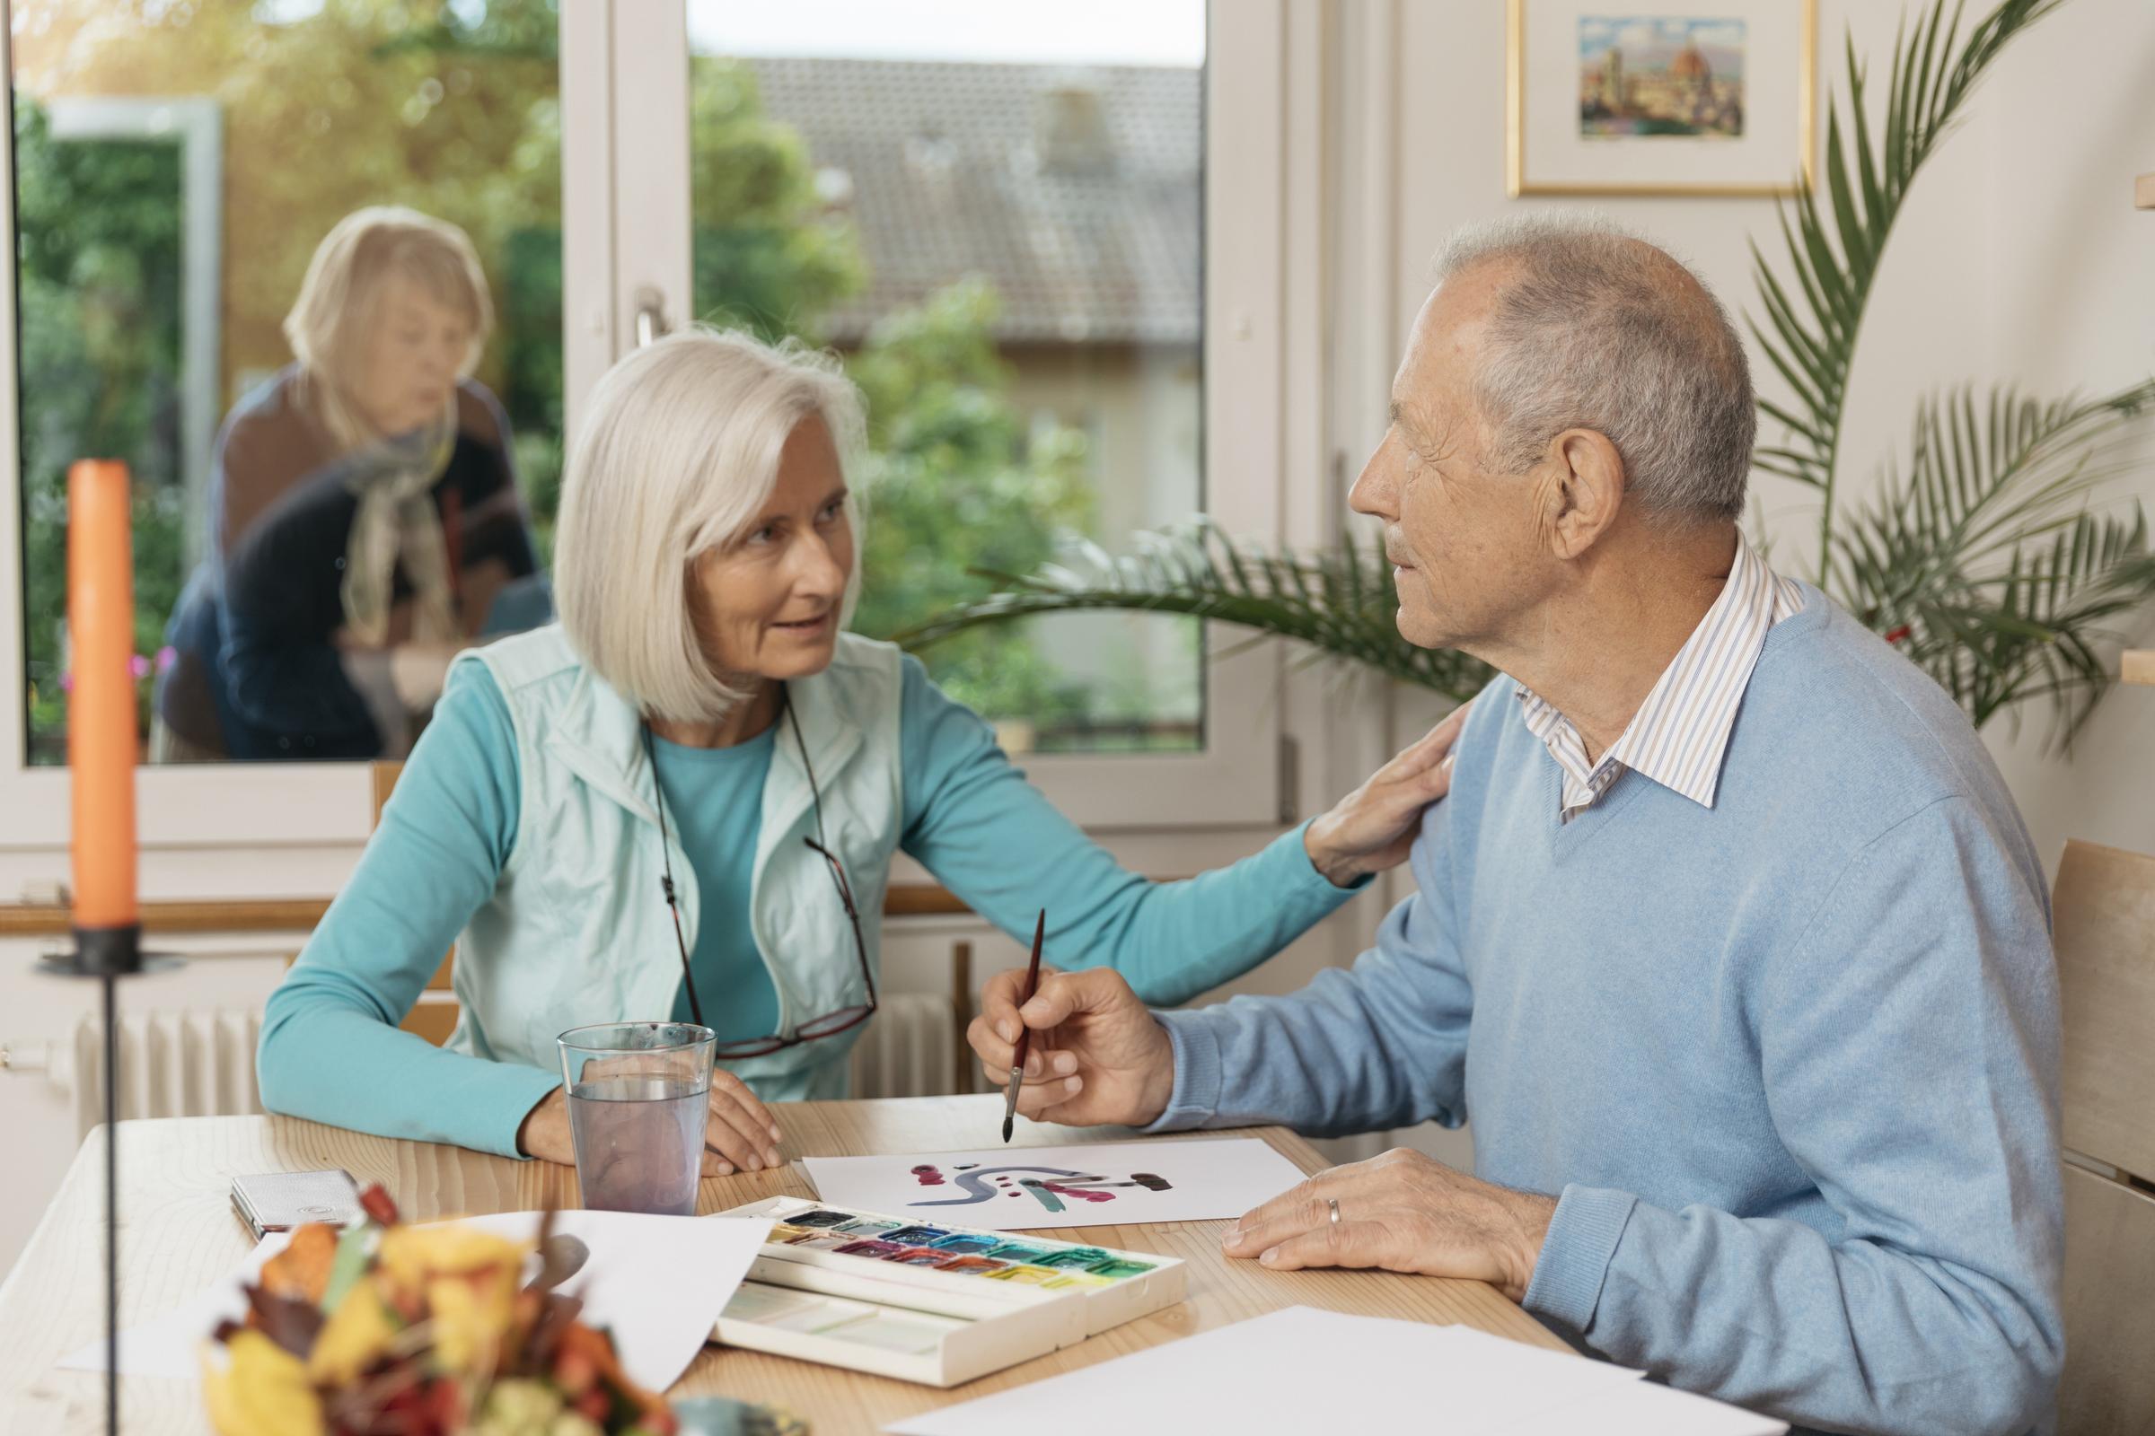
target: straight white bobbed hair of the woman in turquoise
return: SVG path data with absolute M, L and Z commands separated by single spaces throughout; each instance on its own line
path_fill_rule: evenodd
M 554 605 L 584 663 L 642 713 L 709 723 L 746 698 L 705 659 L 692 566 L 763 512 L 808 418 L 851 467 L 864 418 L 836 355 L 705 327 L 638 349 L 593 390 L 562 474 Z M 858 553 L 851 495 L 845 517 Z M 856 562 L 840 624 L 858 592 Z

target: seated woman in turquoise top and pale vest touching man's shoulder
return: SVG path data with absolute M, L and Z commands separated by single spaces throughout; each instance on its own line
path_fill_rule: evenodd
M 556 1036 L 715 1029 L 707 1171 L 778 1160 L 767 1100 L 836 1098 L 903 850 L 1062 967 L 1174 1003 L 1399 863 L 1448 728 L 1233 868 L 1149 883 L 1067 822 L 918 661 L 843 631 L 853 388 L 692 332 L 608 372 L 562 484 L 560 624 L 457 659 L 351 883 L 272 995 L 263 1102 L 573 1160 Z M 463 1018 L 399 1031 L 457 943 Z

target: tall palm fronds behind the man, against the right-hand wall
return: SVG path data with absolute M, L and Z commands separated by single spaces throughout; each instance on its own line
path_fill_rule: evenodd
M 1802 306 L 1752 245 L 1767 314 L 1752 334 L 1793 394 L 1758 403 L 1784 439 L 1756 463 L 1819 495 L 1819 588 L 1901 644 L 1978 728 L 2049 698 L 2054 741 L 2110 685 L 2101 624 L 2155 594 L 2140 506 L 2090 510 L 2123 471 L 2155 383 L 2047 403 L 2013 388 L 1927 398 L 1905 467 L 1886 461 L 1871 506 L 1845 521 L 1834 499 L 1855 338 L 1916 172 L 2004 45 L 2062 2 L 2004 0 L 1963 41 L 1961 0 L 1935 0 L 1894 37 L 1877 136 L 1851 41 L 1847 127 L 1838 108 L 1825 118 L 1830 209 L 1802 187 L 1780 211 Z

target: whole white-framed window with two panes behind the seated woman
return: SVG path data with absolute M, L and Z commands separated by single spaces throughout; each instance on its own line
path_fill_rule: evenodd
M 218 751 L 157 721 L 175 618 L 233 540 L 218 435 L 276 392 L 308 263 L 362 207 L 457 226 L 493 308 L 472 381 L 500 418 L 528 562 L 481 588 L 453 566 L 470 633 L 545 614 L 524 579 L 547 560 L 562 435 L 634 347 L 646 297 L 668 321 L 847 357 L 877 411 L 877 631 L 978 592 L 970 566 L 1034 566 L 1062 532 L 1116 549 L 1202 508 L 1276 536 L 1284 17 L 1278 0 L 1231 15 L 1207 28 L 1202 0 L 17 0 L 0 155 L 17 254 L 0 295 L 15 338 L 0 353 L 4 844 L 56 870 L 67 837 L 78 456 L 125 459 L 138 484 L 144 758 L 162 760 L 138 784 L 147 887 L 159 863 L 194 883 L 218 853 L 274 850 L 220 881 L 319 891 L 364 840 L 366 771 L 332 760 L 371 751 Z M 470 512 L 440 517 L 453 534 Z M 293 573 L 340 601 L 323 564 Z M 323 633 L 317 657 L 353 667 L 336 622 Z M 1080 822 L 1276 814 L 1269 646 L 1084 618 L 929 661 Z M 405 738 L 422 715 L 425 698 Z

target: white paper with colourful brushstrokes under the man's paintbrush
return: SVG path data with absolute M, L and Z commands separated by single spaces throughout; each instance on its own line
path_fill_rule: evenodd
M 804 1156 L 802 1165 L 832 1206 L 991 1231 L 1241 1216 L 1304 1175 L 1254 1137 Z

